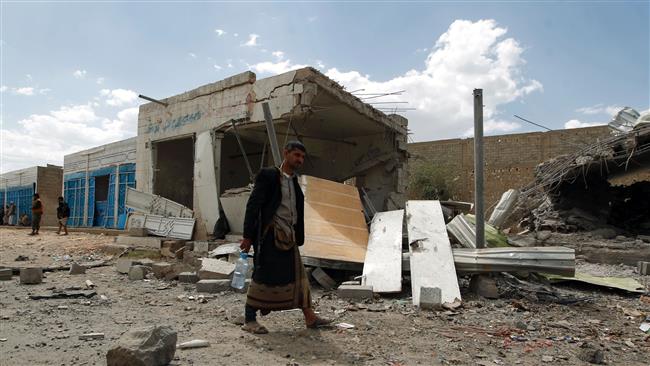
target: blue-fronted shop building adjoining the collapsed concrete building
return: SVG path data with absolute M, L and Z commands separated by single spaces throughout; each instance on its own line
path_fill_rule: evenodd
M 135 187 L 135 149 L 134 137 L 64 156 L 68 225 L 124 228 L 126 188 Z

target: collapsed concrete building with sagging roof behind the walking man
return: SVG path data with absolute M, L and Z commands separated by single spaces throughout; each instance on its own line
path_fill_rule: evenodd
M 303 174 L 354 178 L 377 210 L 404 206 L 407 120 L 382 113 L 313 68 L 260 80 L 244 72 L 141 105 L 137 189 L 192 208 L 197 237 L 211 234 L 219 196 L 251 182 L 236 133 L 253 173 L 273 164 L 263 103 L 280 147 L 295 139 L 307 146 Z

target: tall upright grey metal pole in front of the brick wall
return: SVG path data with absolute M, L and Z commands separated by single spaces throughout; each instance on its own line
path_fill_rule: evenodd
M 483 89 L 474 89 L 474 207 L 477 248 L 485 247 L 483 198 Z

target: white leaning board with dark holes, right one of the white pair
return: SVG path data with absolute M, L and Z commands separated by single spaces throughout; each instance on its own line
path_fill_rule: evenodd
M 440 288 L 442 303 L 460 300 L 456 266 L 440 202 L 406 202 L 406 226 L 413 304 L 420 305 L 422 287 Z

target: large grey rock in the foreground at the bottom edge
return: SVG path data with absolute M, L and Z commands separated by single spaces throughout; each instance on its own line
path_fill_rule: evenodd
M 124 333 L 106 354 L 107 366 L 163 366 L 174 359 L 176 332 L 169 326 L 149 326 Z

